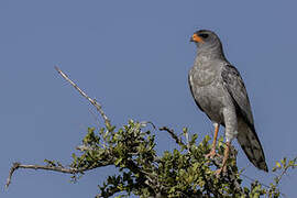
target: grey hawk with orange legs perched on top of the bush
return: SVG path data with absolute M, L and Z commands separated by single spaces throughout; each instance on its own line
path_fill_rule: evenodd
M 223 54 L 220 38 L 215 32 L 200 30 L 190 38 L 197 45 L 195 64 L 189 70 L 188 81 L 191 95 L 201 111 L 215 125 L 212 148 L 207 157 L 216 155 L 219 127 L 223 125 L 227 148 L 221 168 L 227 170 L 230 145 L 238 139 L 250 162 L 257 168 L 268 172 L 264 152 L 254 127 L 250 100 L 238 69 Z

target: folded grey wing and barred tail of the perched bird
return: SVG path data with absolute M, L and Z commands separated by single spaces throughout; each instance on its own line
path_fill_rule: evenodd
M 223 85 L 237 108 L 238 141 L 248 158 L 260 169 L 268 172 L 265 155 L 254 127 L 253 113 L 244 82 L 238 69 L 227 65 L 222 70 Z

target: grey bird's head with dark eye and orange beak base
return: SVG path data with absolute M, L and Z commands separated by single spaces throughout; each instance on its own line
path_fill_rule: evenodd
M 199 50 L 221 48 L 219 36 L 209 30 L 199 30 L 193 34 L 190 42 L 194 42 Z

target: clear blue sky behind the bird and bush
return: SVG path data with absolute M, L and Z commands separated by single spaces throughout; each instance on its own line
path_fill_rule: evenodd
M 96 125 L 92 107 L 54 65 L 97 98 L 119 127 L 147 120 L 176 131 L 188 127 L 200 138 L 211 134 L 187 85 L 196 51 L 189 37 L 199 29 L 219 34 L 241 72 L 268 167 L 296 156 L 296 7 L 255 0 L 1 0 L 1 188 L 15 161 L 69 164 L 87 127 Z M 158 151 L 174 145 L 157 134 Z M 268 185 L 273 174 L 257 170 L 239 151 L 238 165 Z M 70 184 L 69 175 L 21 169 L 0 197 L 94 197 L 112 173 L 96 169 Z M 282 191 L 294 197 L 294 184 L 296 172 L 283 179 Z

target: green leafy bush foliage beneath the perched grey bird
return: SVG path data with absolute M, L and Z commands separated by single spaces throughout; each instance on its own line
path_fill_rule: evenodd
M 296 158 L 282 160 L 273 172 L 280 174 L 270 186 L 254 180 L 250 186 L 242 185 L 241 172 L 237 167 L 237 151 L 231 150 L 228 172 L 217 177 L 215 170 L 222 157 L 213 160 L 205 157 L 211 145 L 207 135 L 198 143 L 197 134 L 188 138 L 184 129 L 180 138 L 172 130 L 163 128 L 176 141 L 178 148 L 166 151 L 157 156 L 155 135 L 146 127 L 147 123 L 129 121 L 116 131 L 116 127 L 96 130 L 89 128 L 78 147 L 79 155 L 73 154 L 72 168 L 84 169 L 73 175 L 77 180 L 85 170 L 102 166 L 116 166 L 119 173 L 109 176 L 96 197 L 280 197 L 277 188 L 285 172 L 297 166 Z M 186 143 L 184 143 L 186 142 Z M 224 144 L 222 138 L 218 142 L 217 152 L 222 155 Z M 48 165 L 58 166 L 47 161 Z M 120 194 L 118 194 L 120 193 Z

